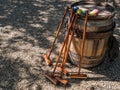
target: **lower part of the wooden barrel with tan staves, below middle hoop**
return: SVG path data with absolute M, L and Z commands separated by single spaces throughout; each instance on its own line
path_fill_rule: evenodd
M 82 67 L 94 67 L 103 61 L 108 47 L 108 39 L 111 35 L 112 30 L 103 33 L 86 33 Z M 79 64 L 78 61 L 80 59 L 80 47 L 82 43 L 81 37 L 82 33 L 80 36 L 74 35 L 69 50 L 70 60 L 75 65 Z

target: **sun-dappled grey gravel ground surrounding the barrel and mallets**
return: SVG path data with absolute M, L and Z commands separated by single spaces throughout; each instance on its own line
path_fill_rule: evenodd
M 42 55 L 49 51 L 64 7 L 74 0 L 0 0 L 0 90 L 120 90 L 120 55 L 98 67 L 82 69 L 89 79 L 70 79 L 68 86 L 54 86 L 42 73 Z M 114 35 L 120 42 L 120 11 Z M 64 30 L 52 54 L 58 53 Z M 67 68 L 76 70 L 67 63 Z

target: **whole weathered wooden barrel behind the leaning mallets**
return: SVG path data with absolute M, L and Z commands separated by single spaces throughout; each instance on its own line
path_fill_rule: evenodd
M 87 5 L 91 5 L 91 4 L 93 6 L 102 5 L 98 3 L 96 4 L 93 2 L 91 3 L 91 2 L 82 1 L 82 2 L 74 3 L 72 7 L 79 4 L 80 5 L 84 4 L 86 7 Z M 84 52 L 83 60 L 82 60 L 82 67 L 84 68 L 97 66 L 103 61 L 103 58 L 108 48 L 108 39 L 113 34 L 112 32 L 115 28 L 115 22 L 113 20 L 114 9 L 111 6 L 107 5 L 107 8 L 109 7 L 112 8 L 113 10 L 110 11 L 111 14 L 109 13 L 109 15 L 102 15 L 101 13 L 105 10 L 104 7 L 106 7 L 106 5 L 103 7 L 99 6 L 99 8 L 102 8 L 102 11 L 97 17 L 88 17 L 86 40 L 85 40 L 85 46 L 83 50 Z M 79 16 L 77 20 L 77 28 L 75 30 L 75 35 L 72 39 L 72 43 L 69 50 L 70 60 L 75 65 L 79 64 L 78 61 L 80 58 L 82 32 L 84 28 L 83 22 L 84 22 L 84 17 Z

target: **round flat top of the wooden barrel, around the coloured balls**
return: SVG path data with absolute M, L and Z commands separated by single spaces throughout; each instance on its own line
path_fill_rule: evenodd
M 106 2 L 93 2 L 93 1 L 79 1 L 75 2 L 71 5 L 71 7 L 79 6 L 81 8 L 85 8 L 88 11 L 93 9 L 98 9 L 99 13 L 97 16 L 89 16 L 89 19 L 92 20 L 100 20 L 100 19 L 111 19 L 115 16 L 115 8 L 106 3 Z M 80 15 L 80 17 L 84 18 L 84 16 Z

